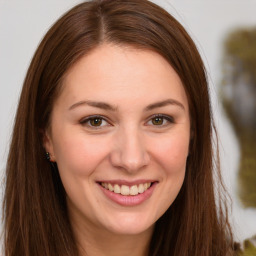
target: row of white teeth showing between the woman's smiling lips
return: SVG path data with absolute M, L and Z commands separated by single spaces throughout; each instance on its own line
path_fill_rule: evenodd
M 145 191 L 147 191 L 152 184 L 153 184 L 152 182 L 146 182 L 138 185 L 127 186 L 127 185 L 118 185 L 118 184 L 111 184 L 111 183 L 105 183 L 105 182 L 100 183 L 100 185 L 103 188 L 111 192 L 114 192 L 115 194 L 121 194 L 123 196 L 136 196 L 138 194 L 142 194 Z

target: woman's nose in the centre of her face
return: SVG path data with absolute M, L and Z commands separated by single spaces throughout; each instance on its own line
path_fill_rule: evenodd
M 146 150 L 145 139 L 137 129 L 120 130 L 114 141 L 110 154 L 113 166 L 134 173 L 149 164 L 150 156 Z

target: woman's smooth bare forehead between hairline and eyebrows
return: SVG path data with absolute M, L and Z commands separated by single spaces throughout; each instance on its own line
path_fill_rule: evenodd
M 93 98 L 129 103 L 175 97 L 187 107 L 182 82 L 158 53 L 130 46 L 103 44 L 83 56 L 67 72 L 60 98 L 71 101 Z

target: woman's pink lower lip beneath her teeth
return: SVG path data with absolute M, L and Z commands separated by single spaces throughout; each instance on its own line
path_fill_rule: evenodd
M 99 184 L 101 190 L 110 200 L 114 201 L 115 203 L 122 205 L 122 206 L 136 206 L 140 205 L 149 199 L 154 191 L 156 186 L 156 182 L 154 182 L 150 188 L 148 188 L 145 192 L 138 194 L 136 196 L 123 196 L 121 194 L 116 194 L 108 189 L 103 188 Z

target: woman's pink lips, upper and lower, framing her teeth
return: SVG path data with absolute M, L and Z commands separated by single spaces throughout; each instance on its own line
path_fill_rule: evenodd
M 150 181 L 150 180 L 137 180 L 135 182 L 124 181 L 124 180 L 115 180 L 115 181 L 111 180 L 111 181 L 102 181 L 102 182 L 110 183 L 110 184 L 122 184 L 122 185 L 127 185 L 127 186 L 138 185 L 138 184 L 147 183 L 147 182 L 152 183 L 151 187 L 148 188 L 142 194 L 138 194 L 135 196 L 131 196 L 131 195 L 123 196 L 121 194 L 116 194 L 108 189 L 103 188 L 101 186 L 101 184 L 97 182 L 99 185 L 99 188 L 104 193 L 104 195 L 111 201 L 113 201 L 121 206 L 137 206 L 137 205 L 142 204 L 143 202 L 145 202 L 152 196 L 153 191 L 158 183 L 156 181 Z

